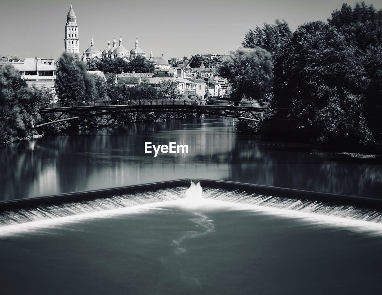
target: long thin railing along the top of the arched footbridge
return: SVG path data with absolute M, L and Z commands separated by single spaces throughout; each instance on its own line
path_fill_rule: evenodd
M 269 103 L 256 101 L 227 101 L 227 100 L 191 100 L 191 99 L 120 99 L 120 100 L 88 100 L 65 103 L 41 103 L 39 109 L 55 109 L 63 107 L 91 107 L 91 106 L 147 106 L 147 105 L 176 105 L 176 106 L 232 106 L 268 108 Z

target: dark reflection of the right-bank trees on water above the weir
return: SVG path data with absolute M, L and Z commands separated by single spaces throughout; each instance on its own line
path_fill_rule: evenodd
M 237 140 L 232 155 L 230 181 L 381 198 L 381 165 L 365 159 L 251 139 Z

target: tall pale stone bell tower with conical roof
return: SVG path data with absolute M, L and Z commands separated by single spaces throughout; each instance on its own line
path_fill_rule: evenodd
M 68 15 L 66 16 L 65 51 L 73 55 L 74 59 L 81 60 L 81 53 L 79 51 L 78 25 L 76 22 L 76 14 L 74 14 L 71 3 Z

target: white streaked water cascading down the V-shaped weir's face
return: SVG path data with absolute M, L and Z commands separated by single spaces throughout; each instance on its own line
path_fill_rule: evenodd
M 230 191 L 228 189 L 210 188 L 208 186 L 204 187 L 202 192 L 201 184 L 199 182 L 195 184 L 191 181 L 188 189 L 184 186 L 178 186 L 175 188 L 148 192 L 133 192 L 130 194 L 113 193 L 92 200 L 78 200 L 56 205 L 43 203 L 33 208 L 25 207 L 4 210 L 0 212 L 0 228 L 2 226 L 51 220 L 65 216 L 78 216 L 78 218 L 80 218 L 81 216 L 95 212 L 178 199 L 183 199 L 181 202 L 184 202 L 185 205 L 187 204 L 188 207 L 203 205 L 203 202 L 207 200 L 219 200 L 292 210 L 293 212 L 310 213 L 320 216 L 335 216 L 358 221 L 382 223 L 382 212 L 378 209 L 358 208 L 351 205 L 321 202 L 318 200 L 303 200 L 294 198 L 293 196 L 272 196 L 239 190 Z

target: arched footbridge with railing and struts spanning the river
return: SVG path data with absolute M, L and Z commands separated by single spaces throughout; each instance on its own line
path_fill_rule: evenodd
M 42 103 L 39 105 L 40 114 L 58 112 L 61 114 L 54 120 L 49 119 L 50 122 L 36 125 L 34 127 L 41 127 L 86 117 L 135 112 L 188 112 L 194 114 L 216 115 L 258 121 L 257 119 L 245 118 L 241 116 L 249 112 L 257 118 L 254 112 L 264 112 L 268 108 L 269 103 L 258 103 L 255 101 L 240 102 L 187 99 L 126 99 L 109 101 L 74 101 L 70 103 Z M 72 114 L 73 112 L 81 112 L 82 114 L 76 117 L 60 119 L 64 114 Z

